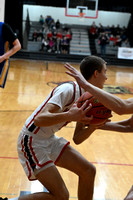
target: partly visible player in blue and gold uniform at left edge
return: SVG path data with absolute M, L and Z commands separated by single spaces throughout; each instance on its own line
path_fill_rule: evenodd
M 0 22 L 0 87 L 4 88 L 8 69 L 9 57 L 21 49 L 21 44 L 8 24 Z

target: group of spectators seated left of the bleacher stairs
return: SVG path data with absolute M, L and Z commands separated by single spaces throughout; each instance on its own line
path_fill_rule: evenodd
M 40 15 L 39 23 L 41 29 L 34 30 L 32 40 L 41 41 L 40 51 L 68 54 L 72 38 L 71 30 L 62 28 L 59 19 L 55 22 L 51 16 L 44 18 Z

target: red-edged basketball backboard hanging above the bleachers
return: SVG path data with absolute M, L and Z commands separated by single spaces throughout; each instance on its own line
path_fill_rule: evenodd
M 65 16 L 96 19 L 98 0 L 67 0 Z

